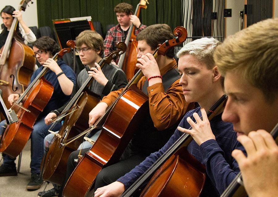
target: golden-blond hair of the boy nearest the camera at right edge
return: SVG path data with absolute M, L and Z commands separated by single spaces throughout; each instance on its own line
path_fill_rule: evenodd
M 235 72 L 273 101 L 278 94 L 278 18 L 229 36 L 217 46 L 213 58 L 222 76 Z

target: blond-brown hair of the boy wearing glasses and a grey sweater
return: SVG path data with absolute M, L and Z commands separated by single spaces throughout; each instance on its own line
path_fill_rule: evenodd
M 96 51 L 100 51 L 101 56 L 104 51 L 103 38 L 96 31 L 84 30 L 75 38 L 75 45 L 77 48 L 82 44 L 86 44 L 88 47 L 93 48 Z

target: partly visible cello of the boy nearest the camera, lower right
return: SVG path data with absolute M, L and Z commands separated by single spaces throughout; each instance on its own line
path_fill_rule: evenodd
M 278 123 L 270 132 L 273 139 L 278 141 Z M 234 180 L 230 183 L 230 185 L 225 189 L 225 191 L 221 194 L 220 197 L 246 197 L 246 191 L 244 189 L 244 185 L 242 182 L 242 174 L 241 172 L 234 178 Z

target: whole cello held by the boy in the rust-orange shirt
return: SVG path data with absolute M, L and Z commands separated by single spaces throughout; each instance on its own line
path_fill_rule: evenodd
M 174 34 L 176 36 L 174 39 L 167 40 L 154 52 L 154 58 L 165 55 L 170 47 L 184 42 L 187 38 L 187 31 L 180 26 L 175 28 Z M 140 130 L 142 123 L 150 122 L 146 121 L 150 119 L 149 97 L 142 94 L 137 87 L 137 82 L 142 76 L 143 73 L 139 70 L 95 125 L 89 129 L 90 131 L 95 127 L 103 126 L 99 138 L 90 151 L 83 156 L 68 179 L 63 196 L 88 195 L 99 171 L 103 167 L 118 162 L 133 133 Z M 149 124 L 149 127 L 154 127 L 152 122 Z

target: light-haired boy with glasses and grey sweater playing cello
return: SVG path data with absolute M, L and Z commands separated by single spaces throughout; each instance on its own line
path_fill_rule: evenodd
M 80 89 L 82 84 L 86 81 L 86 79 L 91 76 L 95 80 L 90 85 L 90 90 L 95 94 L 98 94 L 101 98 L 106 96 L 111 91 L 118 90 L 127 85 L 126 76 L 119 67 L 112 64 L 105 64 L 102 68 L 97 64 L 103 56 L 103 38 L 100 34 L 95 31 L 85 30 L 82 31 L 75 40 L 76 50 L 79 52 L 79 57 L 82 64 L 85 68 L 78 74 L 77 84 L 73 90 L 72 97 L 75 93 Z M 70 101 L 69 101 L 70 102 Z M 68 103 L 69 103 L 68 102 Z M 60 115 L 61 112 L 65 109 L 68 103 L 65 103 L 64 106 L 51 111 L 44 119 L 45 123 L 49 125 L 51 123 L 51 119 Z M 89 127 L 89 125 L 88 125 Z M 100 131 L 96 131 L 94 134 L 91 134 L 91 139 L 96 141 L 100 134 Z M 48 134 L 45 137 L 45 146 L 53 139 L 53 134 Z M 83 148 L 89 148 L 92 145 L 85 141 L 82 143 L 78 150 Z M 45 191 L 39 192 L 38 196 L 49 197 L 56 196 L 61 191 L 61 186 L 53 184 L 54 188 Z

